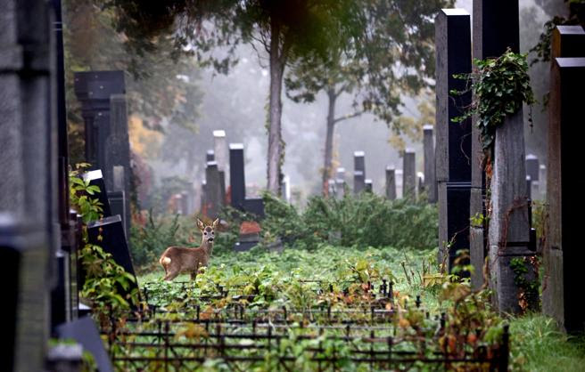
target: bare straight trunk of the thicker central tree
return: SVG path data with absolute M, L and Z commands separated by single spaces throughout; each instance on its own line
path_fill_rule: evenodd
M 270 39 L 270 108 L 268 119 L 268 191 L 280 195 L 283 155 L 281 117 L 284 58 L 280 53 L 280 28 L 272 21 Z

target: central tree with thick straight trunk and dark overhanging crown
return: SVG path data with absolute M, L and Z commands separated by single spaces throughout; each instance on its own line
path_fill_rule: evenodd
M 202 65 L 227 72 L 240 43 L 268 53 L 268 190 L 280 190 L 284 160 L 282 88 L 284 69 L 302 56 L 325 53 L 338 39 L 340 22 L 353 12 L 350 0 L 96 0 L 117 11 L 117 25 L 137 56 L 153 41 L 173 35 L 177 53 L 192 53 Z M 219 50 L 218 50 L 219 47 Z M 259 51 L 260 52 L 260 51 Z

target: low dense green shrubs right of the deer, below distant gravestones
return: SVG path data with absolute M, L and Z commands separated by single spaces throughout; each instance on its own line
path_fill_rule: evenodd
M 264 233 L 294 247 L 316 248 L 341 233 L 343 247 L 436 247 L 436 206 L 372 193 L 345 198 L 314 197 L 304 213 L 265 195 Z

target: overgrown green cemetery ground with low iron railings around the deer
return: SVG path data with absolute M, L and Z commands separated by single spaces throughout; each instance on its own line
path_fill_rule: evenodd
M 355 360 L 356 351 L 367 356 L 385 349 L 368 340 L 391 337 L 395 358 L 405 351 L 415 351 L 421 360 L 437 351 L 454 358 L 500 343 L 506 324 L 511 370 L 582 370 L 585 343 L 558 332 L 553 319 L 531 311 L 498 316 L 487 292 L 474 293 L 468 279 L 441 273 L 433 238 L 436 206 L 363 194 L 341 201 L 313 198 L 301 214 L 275 198 L 266 202 L 264 238 L 277 234 L 285 241 L 284 250 L 268 252 L 260 244 L 233 252 L 237 234 L 231 226 L 245 216 L 227 210 L 225 215 L 234 218 L 219 233 L 210 267 L 196 281 L 182 275 L 164 282 L 156 263 L 171 245 L 164 241 L 198 245 L 193 216 L 151 216 L 134 230 L 139 287 L 151 312 L 141 321 L 129 316 L 119 323 L 122 327 L 113 330 L 116 342 L 111 342 L 112 333 L 104 335 L 119 370 L 164 370 L 166 358 L 176 360 L 164 364 L 170 370 L 371 370 L 374 365 Z M 344 217 L 350 220 L 344 222 Z M 381 221 L 396 223 L 380 230 Z M 325 232 L 332 229 L 342 230 L 342 238 Z M 381 246 L 385 239 L 397 244 Z M 441 326 L 441 314 L 446 326 Z M 144 336 L 149 331 L 151 338 Z M 274 340 L 260 345 L 267 332 Z M 349 333 L 356 337 L 349 344 L 327 341 Z M 214 338 L 221 341 L 214 344 Z M 418 343 L 426 350 L 416 349 Z M 204 362 L 197 359 L 202 356 Z M 140 364 L 141 358 L 151 360 Z M 334 361 L 328 365 L 326 360 Z M 487 370 L 488 364 L 403 362 L 375 364 L 374 370 L 393 368 Z

